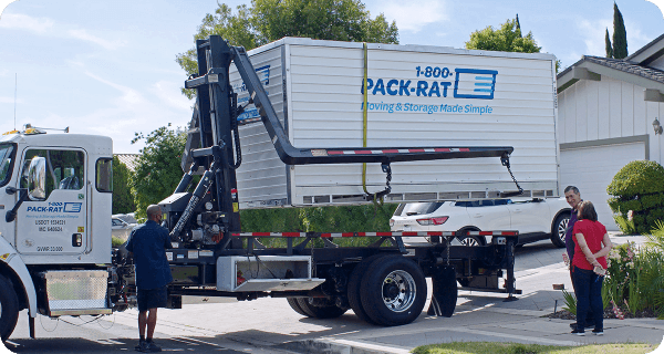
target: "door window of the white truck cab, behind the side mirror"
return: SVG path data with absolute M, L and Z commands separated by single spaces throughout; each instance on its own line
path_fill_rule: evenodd
M 29 149 L 21 171 L 21 188 L 28 188 L 28 169 L 34 157 L 46 159 L 46 199 L 55 189 L 82 189 L 85 186 L 85 155 L 81 150 Z

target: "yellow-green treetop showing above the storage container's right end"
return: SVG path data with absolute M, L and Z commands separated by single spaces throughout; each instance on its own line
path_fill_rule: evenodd
M 539 53 L 541 46 L 537 45 L 532 32 L 528 32 L 525 37 L 521 34 L 520 28 L 517 28 L 517 20 L 507 20 L 498 30 L 489 25 L 484 30 L 470 33 L 466 49 Z

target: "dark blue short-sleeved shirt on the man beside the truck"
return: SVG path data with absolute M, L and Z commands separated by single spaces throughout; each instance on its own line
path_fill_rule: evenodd
M 166 259 L 166 249 L 170 246 L 168 229 L 153 220 L 132 230 L 127 241 L 127 251 L 134 253 L 136 267 L 136 287 L 157 289 L 173 281 L 170 266 Z

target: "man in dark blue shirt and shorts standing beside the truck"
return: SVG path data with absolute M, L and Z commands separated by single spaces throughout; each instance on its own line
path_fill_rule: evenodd
M 157 324 L 157 308 L 166 308 L 166 285 L 173 281 L 170 266 L 166 259 L 166 249 L 170 246 L 168 229 L 159 226 L 162 209 L 159 206 L 147 207 L 147 221 L 132 231 L 127 241 L 127 251 L 134 254 L 136 268 L 136 292 L 138 301 L 138 334 L 141 340 L 136 350 L 139 352 L 160 352 L 153 342 Z M 149 312 L 149 314 L 148 314 Z M 145 327 L 147 326 L 147 337 Z

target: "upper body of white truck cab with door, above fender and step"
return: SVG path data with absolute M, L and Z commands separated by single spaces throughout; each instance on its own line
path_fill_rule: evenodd
M 111 262 L 112 148 L 104 136 L 2 136 L 0 233 L 25 264 Z

